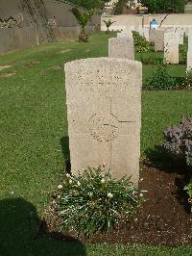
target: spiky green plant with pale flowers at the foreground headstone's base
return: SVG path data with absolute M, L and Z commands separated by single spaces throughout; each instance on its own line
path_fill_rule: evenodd
M 67 174 L 59 197 L 60 229 L 84 237 L 131 220 L 144 201 L 130 178 L 112 179 L 104 166 L 85 169 L 79 176 Z

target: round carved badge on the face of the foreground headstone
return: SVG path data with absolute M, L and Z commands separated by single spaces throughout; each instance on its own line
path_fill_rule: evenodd
M 113 141 L 118 136 L 119 121 L 115 115 L 94 114 L 88 120 L 88 127 L 97 141 Z

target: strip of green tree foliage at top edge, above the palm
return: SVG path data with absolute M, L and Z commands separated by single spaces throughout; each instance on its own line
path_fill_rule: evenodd
M 83 7 L 87 10 L 102 10 L 105 7 L 105 4 L 109 2 L 109 0 L 68 0 L 68 2 Z

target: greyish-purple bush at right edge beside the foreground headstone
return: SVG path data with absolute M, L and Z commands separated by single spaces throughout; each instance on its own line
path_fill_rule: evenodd
M 164 148 L 175 160 L 192 166 L 192 116 L 182 117 L 180 124 L 164 132 Z

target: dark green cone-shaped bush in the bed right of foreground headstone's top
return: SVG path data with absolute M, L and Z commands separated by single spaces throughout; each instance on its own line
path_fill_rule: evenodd
M 148 90 L 170 90 L 176 86 L 176 79 L 169 74 L 168 64 L 160 61 L 155 64 L 153 74 L 146 80 L 144 88 Z

